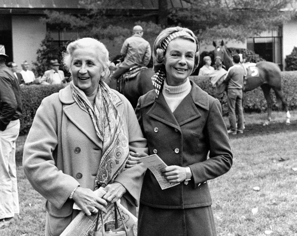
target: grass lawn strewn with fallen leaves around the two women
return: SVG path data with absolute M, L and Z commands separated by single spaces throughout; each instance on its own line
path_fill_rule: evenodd
M 291 112 L 297 120 L 297 111 Z M 246 124 L 263 123 L 267 114 L 245 114 Z M 277 122 L 285 113 L 273 113 Z M 26 136 L 18 138 L 18 222 L 0 235 L 44 235 L 45 199 L 23 174 L 21 156 Z M 220 236 L 297 236 L 297 131 L 230 139 L 231 170 L 209 181 L 213 212 Z M 259 187 L 255 191 L 254 187 Z

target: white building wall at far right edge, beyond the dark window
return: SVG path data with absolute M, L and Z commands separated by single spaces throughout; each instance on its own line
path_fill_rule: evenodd
M 283 48 L 283 64 L 285 65 L 285 58 L 291 54 L 293 48 L 297 47 L 297 20 L 293 20 L 283 25 L 282 33 L 282 48 Z

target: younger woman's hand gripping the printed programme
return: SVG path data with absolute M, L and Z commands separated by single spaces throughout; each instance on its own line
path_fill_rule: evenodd
M 186 168 L 182 166 L 167 166 L 161 172 L 170 183 L 181 183 L 187 178 Z

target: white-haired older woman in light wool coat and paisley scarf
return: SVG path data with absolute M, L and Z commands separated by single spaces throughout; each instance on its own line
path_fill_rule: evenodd
M 136 213 L 143 166 L 124 171 L 129 150 L 146 155 L 137 118 L 128 100 L 101 80 L 109 75 L 108 51 L 98 40 L 70 43 L 64 65 L 73 81 L 46 97 L 24 146 L 23 168 L 46 201 L 45 235 L 60 235 L 78 214 L 106 211 L 107 202 Z M 103 198 L 93 191 L 100 186 Z

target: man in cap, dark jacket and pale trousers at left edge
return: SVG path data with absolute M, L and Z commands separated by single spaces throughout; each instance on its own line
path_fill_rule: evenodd
M 15 164 L 15 141 L 20 131 L 22 103 L 18 79 L 5 65 L 8 56 L 0 45 L 0 229 L 20 213 Z

